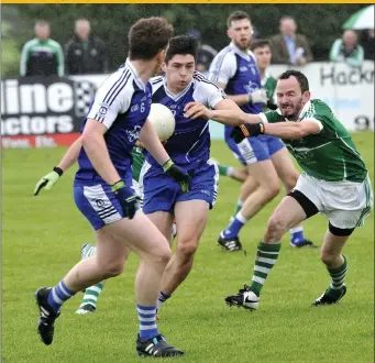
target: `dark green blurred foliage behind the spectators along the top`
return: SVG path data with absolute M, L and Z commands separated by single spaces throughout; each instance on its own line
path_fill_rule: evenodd
M 74 33 L 74 21 L 87 18 L 91 21 L 93 34 L 108 45 L 110 66 L 115 68 L 123 63 L 126 54 L 126 34 L 130 25 L 142 16 L 165 16 L 180 34 L 198 29 L 205 43 L 217 50 L 222 48 L 227 18 L 235 10 L 247 11 L 262 37 L 278 32 L 278 20 L 291 15 L 297 20 L 299 32 L 306 34 L 316 59 L 328 59 L 329 48 L 341 35 L 343 22 L 362 4 L 20 4 L 3 6 L 19 12 L 26 34 L 15 36 L 18 45 L 33 36 L 32 23 L 38 19 L 52 24 L 52 37 L 65 44 Z M 3 10 L 3 11 L 4 11 Z M 8 51 L 5 48 L 5 51 Z M 19 59 L 14 59 L 19 62 Z M 11 70 L 7 75 L 14 75 Z

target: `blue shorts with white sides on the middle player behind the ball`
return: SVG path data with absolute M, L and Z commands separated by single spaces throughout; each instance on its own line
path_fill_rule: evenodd
M 180 185 L 165 174 L 161 167 L 144 163 L 141 172 L 143 194 L 142 210 L 145 215 L 156 211 L 173 213 L 175 204 L 186 200 L 206 200 L 213 207 L 219 187 L 219 169 L 212 161 L 202 162 L 191 173 L 191 185 L 188 193 L 183 193 Z

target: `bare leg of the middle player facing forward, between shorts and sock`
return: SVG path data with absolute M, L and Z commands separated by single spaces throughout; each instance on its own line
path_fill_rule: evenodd
M 209 205 L 205 200 L 176 204 L 177 246 L 163 275 L 164 294 L 170 296 L 191 271 L 194 255 L 207 223 L 208 211 Z

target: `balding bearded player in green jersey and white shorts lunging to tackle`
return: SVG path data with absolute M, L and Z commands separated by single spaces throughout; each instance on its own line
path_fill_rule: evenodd
M 287 70 L 278 79 L 279 111 L 247 114 L 242 111 L 212 111 L 195 107 L 195 117 L 249 122 L 233 130 L 236 143 L 245 138 L 267 134 L 282 138 L 304 173 L 296 187 L 277 206 L 257 245 L 252 283 L 236 295 L 225 298 L 228 305 L 255 310 L 268 273 L 275 265 L 283 234 L 318 212 L 329 220 L 321 248 L 321 261 L 331 277 L 328 289 L 312 305 L 338 302 L 346 293 L 346 258 L 343 246 L 356 227 L 363 226 L 373 205 L 373 193 L 366 166 L 355 145 L 331 109 L 310 99 L 309 82 L 298 70 Z M 188 111 L 194 105 L 187 106 Z

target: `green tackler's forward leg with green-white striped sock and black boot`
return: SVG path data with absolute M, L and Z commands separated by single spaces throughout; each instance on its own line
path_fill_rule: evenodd
M 225 298 L 228 305 L 241 306 L 250 310 L 258 307 L 261 289 L 277 261 L 283 235 L 291 226 L 306 218 L 305 210 L 295 198 L 286 196 L 282 200 L 269 218 L 263 240 L 257 245 L 252 284 L 240 289 L 236 295 L 228 296 Z

